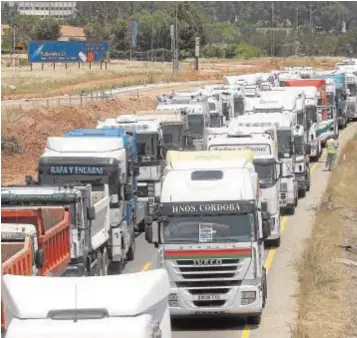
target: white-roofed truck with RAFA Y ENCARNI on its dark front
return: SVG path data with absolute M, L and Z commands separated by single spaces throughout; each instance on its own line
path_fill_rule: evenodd
M 125 137 L 48 137 L 39 159 L 40 185 L 92 186 L 95 248 L 108 252 L 112 271 L 121 271 L 135 255 L 135 211 L 129 202 L 135 190 L 130 184 L 128 152 Z

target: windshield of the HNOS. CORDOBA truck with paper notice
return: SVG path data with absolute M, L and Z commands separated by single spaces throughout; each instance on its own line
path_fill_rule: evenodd
M 171 217 L 163 233 L 165 244 L 250 242 L 254 214 Z

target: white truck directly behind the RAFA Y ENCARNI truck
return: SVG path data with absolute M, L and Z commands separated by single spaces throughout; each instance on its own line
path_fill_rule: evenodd
M 114 119 L 98 121 L 97 129 L 119 128 L 135 132 L 137 138 L 137 195 L 138 204 L 145 206 L 144 223 L 138 230 L 152 222 L 152 212 L 160 196 L 163 167 L 163 127 L 159 120 L 142 120 L 137 115 L 121 115 Z

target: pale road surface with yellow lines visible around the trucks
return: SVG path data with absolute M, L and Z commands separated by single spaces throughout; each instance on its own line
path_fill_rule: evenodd
M 340 148 L 357 133 L 357 123 L 340 133 Z M 259 327 L 245 325 L 238 319 L 185 320 L 173 323 L 173 338 L 287 338 L 295 321 L 295 295 L 298 287 L 296 262 L 313 224 L 313 209 L 325 191 L 330 173 L 325 171 L 324 156 L 311 166 L 311 190 L 294 216 L 282 219 L 282 241 L 278 249 L 265 252 L 268 272 L 268 300 Z M 155 249 L 141 234 L 136 242 L 136 257 L 127 264 L 124 273 L 146 271 L 155 266 Z

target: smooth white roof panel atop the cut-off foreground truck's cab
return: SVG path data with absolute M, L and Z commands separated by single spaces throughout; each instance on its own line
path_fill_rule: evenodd
M 51 310 L 75 307 L 105 309 L 113 317 L 151 311 L 169 295 L 170 286 L 166 271 L 156 269 L 85 278 L 5 275 L 2 291 L 9 310 L 19 319 L 47 318 Z

